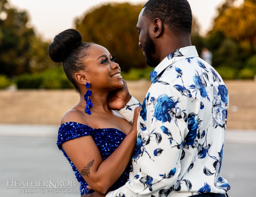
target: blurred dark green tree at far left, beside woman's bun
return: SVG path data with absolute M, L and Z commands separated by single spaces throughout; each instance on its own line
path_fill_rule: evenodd
M 28 27 L 28 14 L 0 0 L 0 74 L 17 76 L 53 66 L 43 42 Z

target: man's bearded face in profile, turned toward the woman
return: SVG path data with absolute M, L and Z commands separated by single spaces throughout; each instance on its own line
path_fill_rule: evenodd
M 136 29 L 139 33 L 139 46 L 142 48 L 143 55 L 146 58 L 146 64 L 150 67 L 156 67 L 159 62 L 156 62 L 154 56 L 156 54 L 156 46 L 152 38 L 149 34 L 150 28 L 150 19 L 143 16 L 143 11 L 145 8 L 142 9 L 139 15 L 138 23 Z

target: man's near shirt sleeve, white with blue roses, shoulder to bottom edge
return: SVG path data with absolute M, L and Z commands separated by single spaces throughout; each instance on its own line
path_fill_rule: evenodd
M 166 83 L 151 86 L 137 122 L 134 177 L 130 173 L 130 180 L 107 197 L 167 196 L 179 189 L 186 117 L 186 101 L 179 91 Z

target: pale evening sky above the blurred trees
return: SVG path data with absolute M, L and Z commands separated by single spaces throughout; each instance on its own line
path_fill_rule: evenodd
M 238 4 L 243 2 L 243 0 L 237 1 Z M 29 25 L 47 41 L 52 41 L 56 34 L 66 29 L 74 28 L 74 19 L 84 16 L 86 11 L 109 2 L 138 4 L 145 3 L 146 0 L 9 0 L 9 3 L 18 10 L 28 12 Z M 204 35 L 211 30 L 217 8 L 225 0 L 188 0 L 188 2 L 193 17 L 200 25 L 201 34 Z

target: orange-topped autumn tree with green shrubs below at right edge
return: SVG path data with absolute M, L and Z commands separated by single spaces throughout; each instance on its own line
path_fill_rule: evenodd
M 256 74 L 253 68 L 256 59 L 252 58 L 256 53 L 256 0 L 245 0 L 239 7 L 235 2 L 226 0 L 218 9 L 219 15 L 206 45 L 213 52 L 213 66 L 220 72 L 229 71 L 223 78 L 253 78 Z

